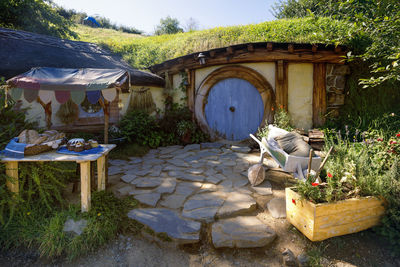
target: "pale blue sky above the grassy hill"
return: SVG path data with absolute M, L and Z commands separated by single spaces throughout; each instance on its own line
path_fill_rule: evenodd
M 100 15 L 112 22 L 154 32 L 161 18 L 171 16 L 187 25 L 190 18 L 200 29 L 245 25 L 273 20 L 276 0 L 53 0 L 56 4 L 89 16 Z

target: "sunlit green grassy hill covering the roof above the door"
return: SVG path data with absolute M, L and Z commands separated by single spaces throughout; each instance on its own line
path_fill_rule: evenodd
M 346 44 L 353 33 L 351 25 L 331 18 L 283 19 L 147 37 L 82 25 L 75 30 L 79 40 L 106 46 L 139 69 L 189 53 L 246 42 Z

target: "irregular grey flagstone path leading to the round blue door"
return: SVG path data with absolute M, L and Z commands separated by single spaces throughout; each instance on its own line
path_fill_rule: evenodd
M 143 206 L 128 216 L 156 233 L 195 243 L 201 225 L 211 224 L 215 247 L 260 247 L 276 236 L 253 214 L 256 198 L 272 195 L 272 187 L 249 184 L 247 169 L 258 162 L 249 151 L 220 143 L 160 147 L 141 158 L 110 160 L 109 172 L 121 175 L 118 193 Z

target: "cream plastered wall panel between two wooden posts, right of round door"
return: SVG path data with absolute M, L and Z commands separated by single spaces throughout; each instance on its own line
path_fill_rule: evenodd
M 289 63 L 288 111 L 297 128 L 312 128 L 313 64 Z

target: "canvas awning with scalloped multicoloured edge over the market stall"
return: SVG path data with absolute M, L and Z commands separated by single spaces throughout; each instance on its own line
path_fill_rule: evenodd
M 21 98 L 31 103 L 38 97 L 47 104 L 55 99 L 60 104 L 71 99 L 77 105 L 85 100 L 95 104 L 103 96 L 113 101 L 117 95 L 116 87 L 129 81 L 129 73 L 122 69 L 63 69 L 33 68 L 7 81 L 14 100 Z

